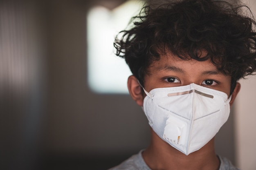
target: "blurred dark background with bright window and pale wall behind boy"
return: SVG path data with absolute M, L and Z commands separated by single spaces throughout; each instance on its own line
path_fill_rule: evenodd
M 142 4 L 0 0 L 1 170 L 106 170 L 148 146 L 146 117 L 126 90 L 130 72 L 112 54 Z M 240 82 L 216 150 L 255 170 L 256 78 Z

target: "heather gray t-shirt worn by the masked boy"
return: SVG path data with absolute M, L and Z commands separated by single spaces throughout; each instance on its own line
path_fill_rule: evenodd
M 132 155 L 129 159 L 124 161 L 118 166 L 110 168 L 109 170 L 151 170 L 145 163 L 141 153 L 141 150 L 138 154 Z M 232 163 L 225 157 L 220 157 L 220 168 L 219 170 L 240 170 L 232 165 Z

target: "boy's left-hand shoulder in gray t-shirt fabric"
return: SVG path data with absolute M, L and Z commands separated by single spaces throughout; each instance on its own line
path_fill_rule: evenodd
M 141 155 L 142 151 L 109 170 L 150 170 Z

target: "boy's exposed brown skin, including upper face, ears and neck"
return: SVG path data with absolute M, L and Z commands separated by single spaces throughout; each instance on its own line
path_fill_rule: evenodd
M 144 88 L 150 91 L 154 88 L 185 86 L 195 83 L 208 88 L 222 91 L 230 96 L 231 77 L 220 73 L 210 60 L 181 60 L 167 53 L 160 60 L 154 61 L 144 77 Z M 143 106 L 146 94 L 141 90 L 135 76 L 128 78 L 128 89 L 132 99 Z M 230 106 L 240 90 L 237 83 L 232 93 Z M 200 150 L 188 156 L 176 150 L 151 129 L 150 146 L 142 153 L 144 161 L 152 170 L 218 170 L 220 161 L 214 150 L 214 138 Z

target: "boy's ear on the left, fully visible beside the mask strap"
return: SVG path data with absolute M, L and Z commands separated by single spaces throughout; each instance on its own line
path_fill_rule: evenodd
M 130 93 L 130 96 L 132 97 L 132 99 L 134 99 L 134 101 L 139 105 L 139 106 L 143 106 L 143 93 L 141 91 L 141 86 L 138 82 L 138 79 L 134 76 L 131 75 L 128 78 L 128 90 Z

